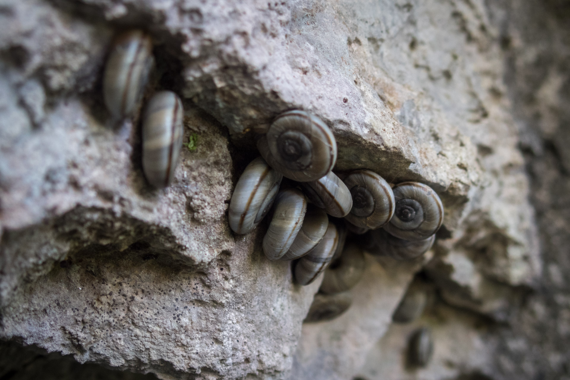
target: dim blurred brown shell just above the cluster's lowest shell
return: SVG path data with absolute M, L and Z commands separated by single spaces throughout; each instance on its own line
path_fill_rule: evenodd
M 343 254 L 324 271 L 319 291 L 325 294 L 340 293 L 351 289 L 364 273 L 363 251 L 354 243 L 348 244 Z

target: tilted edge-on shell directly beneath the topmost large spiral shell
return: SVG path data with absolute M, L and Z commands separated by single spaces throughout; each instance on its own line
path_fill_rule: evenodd
M 307 198 L 336 218 L 343 218 L 352 209 L 352 195 L 347 185 L 332 171 L 311 182 L 302 182 Z

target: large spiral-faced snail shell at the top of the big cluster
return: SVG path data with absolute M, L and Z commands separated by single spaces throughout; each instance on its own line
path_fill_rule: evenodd
M 335 136 L 323 121 L 305 111 L 279 115 L 257 147 L 267 164 L 298 182 L 316 181 L 336 162 Z

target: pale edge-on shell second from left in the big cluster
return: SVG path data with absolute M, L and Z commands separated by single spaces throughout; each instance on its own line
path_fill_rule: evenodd
M 301 190 L 281 190 L 275 198 L 271 223 L 263 237 L 263 252 L 270 260 L 279 260 L 287 253 L 303 225 L 307 198 Z

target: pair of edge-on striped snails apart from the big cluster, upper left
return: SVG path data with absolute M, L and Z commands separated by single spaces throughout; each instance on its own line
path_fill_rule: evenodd
M 105 64 L 103 99 L 115 120 L 129 117 L 143 98 L 154 66 L 152 40 L 141 30 L 115 39 Z M 182 101 L 172 91 L 150 97 L 143 114 L 143 171 L 150 185 L 166 187 L 174 177 L 184 135 Z

